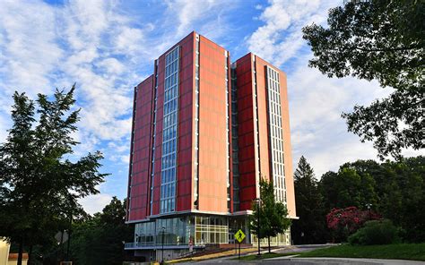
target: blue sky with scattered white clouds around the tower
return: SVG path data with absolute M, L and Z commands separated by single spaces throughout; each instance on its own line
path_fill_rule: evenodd
M 389 94 L 377 82 L 328 79 L 308 68 L 301 28 L 324 24 L 342 1 L 14 1 L 0 2 L 0 141 L 11 126 L 14 90 L 51 95 L 77 84 L 82 108 L 76 156 L 101 150 L 110 173 L 100 194 L 83 199 L 99 211 L 126 196 L 133 88 L 153 60 L 192 30 L 230 50 L 256 53 L 288 73 L 293 164 L 304 155 L 317 177 L 358 158 L 376 158 L 370 143 L 347 133 L 340 115 Z M 405 155 L 414 152 L 406 150 Z

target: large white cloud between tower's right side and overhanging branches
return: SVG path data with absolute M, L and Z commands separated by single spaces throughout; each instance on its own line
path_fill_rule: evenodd
M 370 142 L 362 143 L 347 133 L 341 114 L 355 104 L 382 98 L 390 90 L 383 90 L 377 82 L 329 79 L 307 64 L 308 56 L 299 57 L 297 68 L 288 76 L 294 167 L 304 155 L 320 177 L 345 162 L 376 159 L 377 151 Z

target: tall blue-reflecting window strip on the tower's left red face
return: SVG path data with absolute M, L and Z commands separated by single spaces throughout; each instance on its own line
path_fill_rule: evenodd
M 176 210 L 179 54 L 180 48 L 175 47 L 165 56 L 160 213 Z

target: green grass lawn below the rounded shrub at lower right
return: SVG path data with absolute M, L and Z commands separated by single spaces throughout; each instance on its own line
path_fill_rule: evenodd
M 324 249 L 317 249 L 311 252 L 302 252 L 297 257 L 370 258 L 425 261 L 425 244 L 343 244 Z

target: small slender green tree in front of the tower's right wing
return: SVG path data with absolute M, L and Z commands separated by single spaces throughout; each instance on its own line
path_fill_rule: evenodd
M 260 199 L 261 203 L 259 205 L 253 205 L 250 229 L 258 237 L 258 240 L 267 238 L 269 252 L 271 252 L 271 237 L 277 236 L 291 227 L 291 219 L 288 218 L 286 206 L 275 199 L 273 182 L 268 182 L 264 178 L 260 178 Z M 257 220 L 258 214 L 260 215 L 259 224 Z M 257 235 L 258 226 L 260 235 Z

